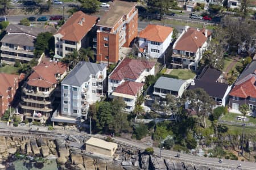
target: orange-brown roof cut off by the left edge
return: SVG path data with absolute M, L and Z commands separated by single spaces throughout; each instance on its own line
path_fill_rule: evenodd
M 0 96 L 8 95 L 8 88 L 15 86 L 14 81 L 19 79 L 19 75 L 0 73 Z

